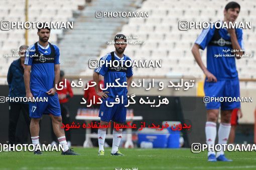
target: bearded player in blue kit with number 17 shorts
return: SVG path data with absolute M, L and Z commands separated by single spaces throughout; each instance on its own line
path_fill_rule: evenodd
M 24 81 L 27 97 L 47 97 L 48 102 L 30 102 L 29 113 L 31 117 L 30 132 L 32 143 L 35 147 L 39 144 L 39 121 L 42 114 L 51 116 L 54 133 L 59 143 L 64 144 L 63 155 L 75 155 L 73 150 L 68 147 L 64 129 L 60 103 L 56 92 L 55 84 L 59 82 L 60 62 L 59 48 L 48 42 L 50 28 L 47 25 L 39 24 L 39 41 L 31 45 L 25 58 Z M 34 154 L 42 154 L 40 150 L 35 150 Z

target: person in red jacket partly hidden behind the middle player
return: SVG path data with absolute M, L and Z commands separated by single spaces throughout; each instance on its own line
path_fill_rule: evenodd
M 88 85 L 92 85 L 93 80 L 88 81 Z M 99 79 L 99 85 L 101 85 L 102 88 L 104 88 L 104 81 L 103 77 L 101 76 Z M 87 83 L 85 84 L 85 88 L 87 87 Z M 100 87 L 100 86 L 99 86 Z M 100 89 L 100 91 L 102 91 Z M 95 95 L 95 102 L 93 102 L 93 96 Z M 96 94 L 95 88 L 94 87 L 89 87 L 87 90 L 84 90 L 83 97 L 86 99 L 88 105 L 91 104 L 91 108 L 98 108 L 100 105 L 97 105 L 97 102 L 99 102 L 99 96 Z

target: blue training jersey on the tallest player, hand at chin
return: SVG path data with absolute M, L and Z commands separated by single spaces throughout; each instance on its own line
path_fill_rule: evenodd
M 244 49 L 242 29 L 236 28 L 235 32 L 240 47 Z M 223 56 L 234 54 L 231 52 L 231 49 L 233 48 L 230 35 L 226 28 L 216 29 L 215 27 L 209 27 L 207 29 L 203 29 L 195 43 L 198 44 L 201 49 L 205 49 L 207 46 L 207 69 L 216 76 L 217 79 L 225 80 L 238 78 L 235 66 L 235 57 Z M 214 56 L 219 54 L 222 56 Z

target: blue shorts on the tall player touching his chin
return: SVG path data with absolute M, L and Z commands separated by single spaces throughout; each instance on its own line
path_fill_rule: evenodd
M 218 80 L 217 82 L 204 82 L 205 96 L 209 97 L 240 97 L 239 79 Z M 206 109 L 232 110 L 240 108 L 239 101 L 210 101 L 205 103 Z

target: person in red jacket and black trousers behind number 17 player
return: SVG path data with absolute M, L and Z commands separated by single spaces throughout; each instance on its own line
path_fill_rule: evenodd
M 69 80 L 66 79 L 66 84 L 65 84 L 65 78 L 64 78 L 64 71 L 60 70 L 60 82 L 63 83 L 64 87 L 63 89 L 60 89 L 61 87 L 59 86 L 60 82 L 58 83 L 57 86 L 57 93 L 58 93 L 58 97 L 59 97 L 59 101 L 60 101 L 60 110 L 61 110 L 61 116 L 62 116 L 62 122 L 64 124 L 70 124 L 70 119 L 69 119 L 69 109 L 67 106 L 67 102 L 69 100 L 69 98 L 73 97 L 73 91 L 70 85 Z M 66 86 L 65 86 L 66 85 Z M 60 90 L 58 90 L 60 89 Z M 71 146 L 71 134 L 70 134 L 70 130 L 65 130 L 65 134 L 66 134 L 66 138 L 67 138 L 67 143 L 68 146 Z M 53 133 L 52 130 L 52 144 L 56 144 L 56 137 Z

